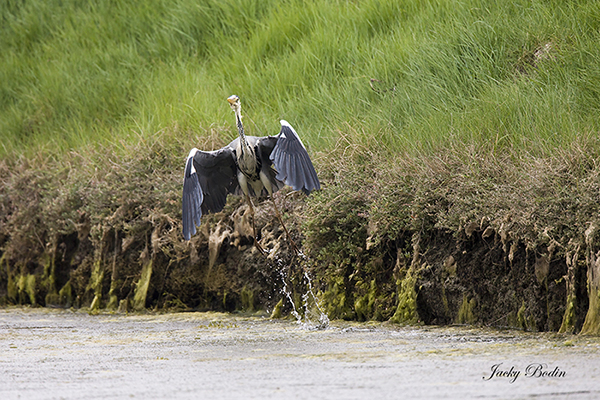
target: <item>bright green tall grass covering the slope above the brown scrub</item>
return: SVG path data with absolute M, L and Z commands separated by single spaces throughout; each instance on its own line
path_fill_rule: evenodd
M 251 133 L 285 118 L 320 150 L 547 153 L 600 128 L 596 1 L 2 0 L 0 21 L 0 157 L 233 137 L 232 93 Z

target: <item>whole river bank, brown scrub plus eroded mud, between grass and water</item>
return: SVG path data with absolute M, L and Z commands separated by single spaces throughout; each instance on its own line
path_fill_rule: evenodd
M 596 148 L 320 159 L 323 190 L 276 196 L 296 258 L 269 201 L 256 215 L 267 257 L 235 197 L 184 242 L 180 165 L 161 149 L 104 175 L 4 166 L 0 305 L 285 316 L 310 283 L 331 319 L 598 334 Z

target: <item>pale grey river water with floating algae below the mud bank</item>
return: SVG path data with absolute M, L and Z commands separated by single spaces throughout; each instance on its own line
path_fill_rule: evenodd
M 0 399 L 599 399 L 600 338 L 0 309 Z

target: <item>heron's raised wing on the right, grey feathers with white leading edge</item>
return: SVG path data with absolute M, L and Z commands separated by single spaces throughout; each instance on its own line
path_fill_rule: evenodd
M 302 189 L 305 193 L 319 190 L 319 178 L 298 134 L 287 121 L 280 122 L 281 132 L 270 156 L 277 169 L 276 178 L 294 190 Z

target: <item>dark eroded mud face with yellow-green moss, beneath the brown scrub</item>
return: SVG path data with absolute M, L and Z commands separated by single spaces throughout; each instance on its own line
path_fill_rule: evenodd
M 236 203 L 229 210 L 189 244 L 173 244 L 177 232 L 166 217 L 133 232 L 109 228 L 98 242 L 85 228 L 58 235 L 36 260 L 2 258 L 1 301 L 92 310 L 283 308 L 285 314 L 291 305 L 284 281 L 302 310 L 307 270 L 331 318 L 597 332 L 587 282 L 593 284 L 600 263 L 591 239 L 556 257 L 551 247 L 528 249 L 484 224 L 409 231 L 375 251 L 365 245 L 353 262 L 333 270 L 310 252 L 291 258 L 268 202 L 259 214 L 267 257 L 252 245 L 248 208 Z

